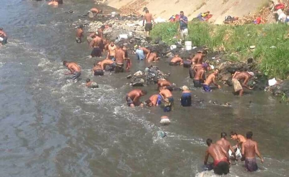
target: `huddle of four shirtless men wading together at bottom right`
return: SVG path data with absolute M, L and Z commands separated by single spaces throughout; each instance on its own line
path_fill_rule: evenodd
M 258 170 L 255 154 L 260 158 L 261 163 L 264 162 L 264 159 L 258 150 L 258 143 L 252 140 L 252 136 L 253 133 L 251 131 L 247 132 L 246 138 L 241 134 L 231 132 L 231 139 L 237 141 L 234 147 L 232 147 L 226 139 L 227 134 L 225 132 L 221 133 L 221 139 L 215 144 L 212 139 L 208 138 L 206 140 L 208 148 L 206 150 L 204 165 L 207 166 L 209 170 L 214 169 L 217 175 L 226 175 L 229 173 L 231 160 L 236 160 L 235 152 L 240 147 L 241 161 L 245 161 L 245 169 L 250 172 Z M 231 152 L 231 157 L 229 156 L 229 152 Z M 213 158 L 214 162 L 208 166 L 209 156 Z

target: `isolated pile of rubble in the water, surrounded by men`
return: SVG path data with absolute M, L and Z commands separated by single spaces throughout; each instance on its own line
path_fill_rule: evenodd
M 149 84 L 156 84 L 158 83 L 159 79 L 166 79 L 169 74 L 163 73 L 156 66 L 150 66 L 145 68 L 145 70 L 137 71 L 132 75 L 128 75 L 126 78 L 130 79 L 130 85 L 134 87 L 145 86 Z

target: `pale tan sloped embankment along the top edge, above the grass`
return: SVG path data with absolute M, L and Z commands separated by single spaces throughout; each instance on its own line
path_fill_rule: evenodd
M 200 12 L 210 11 L 213 17 L 210 21 L 221 24 L 225 16 L 244 16 L 249 12 L 258 11 L 268 0 L 104 0 L 103 3 L 117 9 L 126 9 L 143 13 L 148 7 L 155 18 L 168 19 L 181 10 L 189 20 Z

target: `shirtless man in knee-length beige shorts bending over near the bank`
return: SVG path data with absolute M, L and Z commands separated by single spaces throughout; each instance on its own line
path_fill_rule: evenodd
M 234 87 L 235 93 L 239 93 L 239 96 L 244 94 L 244 88 L 248 88 L 252 90 L 253 88 L 248 87 L 248 81 L 254 76 L 253 72 L 239 72 L 236 71 L 232 77 L 232 84 Z M 243 80 L 243 84 L 240 83 L 239 80 Z

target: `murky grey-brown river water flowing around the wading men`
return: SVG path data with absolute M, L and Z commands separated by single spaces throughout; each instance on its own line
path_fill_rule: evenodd
M 193 89 L 192 107 L 178 103 L 175 111 L 159 107 L 126 106 L 128 73 L 92 76 L 95 59 L 87 43 L 75 42 L 71 23 L 93 6 L 82 0 L 64 1 L 50 7 L 45 1 L 1 0 L 0 25 L 8 44 L 0 48 L 0 168 L 1 176 L 201 176 L 206 138 L 217 140 L 220 132 L 253 131 L 265 163 L 247 173 L 242 162 L 230 169 L 239 177 L 287 176 L 289 172 L 289 109 L 263 91 L 239 98 L 231 88 L 204 93 L 192 88 L 187 69 L 156 65 L 170 72 L 169 80 Z M 65 13 L 68 10 L 75 13 Z M 82 67 L 82 80 L 72 83 L 63 75 L 63 60 Z M 146 64 L 133 61 L 132 71 Z M 100 84 L 85 88 L 85 79 Z M 148 95 L 156 86 L 146 88 Z M 231 107 L 210 103 L 230 102 Z M 172 124 L 159 125 L 162 115 Z M 158 138 L 157 131 L 168 136 Z M 232 142 L 234 143 L 234 142 Z M 214 176 L 208 172 L 205 176 Z

